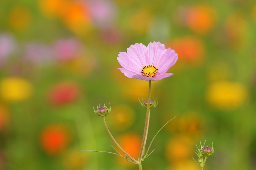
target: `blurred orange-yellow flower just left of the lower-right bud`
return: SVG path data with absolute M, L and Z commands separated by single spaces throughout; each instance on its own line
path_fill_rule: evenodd
M 193 147 L 194 141 L 189 137 L 175 136 L 167 143 L 165 149 L 166 158 L 175 163 L 186 160 L 194 153 Z

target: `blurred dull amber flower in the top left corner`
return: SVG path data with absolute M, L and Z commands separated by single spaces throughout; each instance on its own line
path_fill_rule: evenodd
M 9 24 L 17 30 L 25 29 L 31 21 L 30 11 L 21 6 L 13 7 L 9 15 Z

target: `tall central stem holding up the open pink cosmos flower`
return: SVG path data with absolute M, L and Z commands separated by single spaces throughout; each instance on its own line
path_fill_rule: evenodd
M 150 106 L 150 92 L 151 92 L 151 80 L 149 81 L 149 90 L 148 90 L 148 105 L 147 105 L 147 111 L 146 111 L 146 120 L 145 120 L 145 126 L 144 126 L 144 132 L 143 132 L 143 137 L 142 137 L 142 142 L 141 142 L 141 147 L 140 147 L 140 154 L 138 158 L 138 162 L 141 162 L 144 150 L 145 150 L 145 144 L 147 140 L 147 135 L 148 135 L 148 125 L 149 125 L 149 106 Z

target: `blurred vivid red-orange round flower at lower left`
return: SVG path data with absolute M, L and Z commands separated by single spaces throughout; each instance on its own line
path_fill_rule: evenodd
M 65 126 L 47 125 L 40 134 L 40 144 L 44 152 L 56 155 L 62 152 L 70 142 L 70 134 Z

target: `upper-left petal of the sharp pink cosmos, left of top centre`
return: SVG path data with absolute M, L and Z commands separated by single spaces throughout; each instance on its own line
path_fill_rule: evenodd
M 143 45 L 142 43 L 136 43 L 135 45 L 131 45 L 127 49 L 127 53 L 130 54 L 132 58 L 131 60 L 135 60 L 137 61 L 137 63 L 140 64 L 140 69 L 146 66 L 147 47 L 145 45 Z

